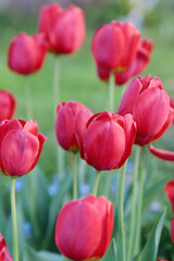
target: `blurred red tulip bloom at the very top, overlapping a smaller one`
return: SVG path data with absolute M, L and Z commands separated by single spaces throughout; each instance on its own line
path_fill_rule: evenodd
M 40 11 L 39 30 L 46 33 L 52 52 L 73 53 L 85 39 L 84 12 L 76 5 L 65 10 L 58 4 L 46 5 Z

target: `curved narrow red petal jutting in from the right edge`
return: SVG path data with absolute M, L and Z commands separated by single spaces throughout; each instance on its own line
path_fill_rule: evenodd
M 153 156 L 156 156 L 157 158 L 160 158 L 161 160 L 174 161 L 173 151 L 156 149 L 154 147 L 152 147 L 152 145 L 149 145 L 149 150 Z

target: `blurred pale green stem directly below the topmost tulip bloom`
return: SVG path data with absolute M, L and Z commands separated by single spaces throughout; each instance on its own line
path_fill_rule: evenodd
M 52 86 L 52 95 L 53 95 L 53 121 L 55 120 L 55 110 L 57 105 L 60 102 L 60 64 L 59 64 L 59 55 L 54 58 L 54 70 L 53 70 L 53 86 Z

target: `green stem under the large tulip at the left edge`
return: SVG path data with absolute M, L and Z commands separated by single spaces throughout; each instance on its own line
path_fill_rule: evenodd
M 13 223 L 13 259 L 18 261 L 18 245 L 17 245 L 17 220 L 16 220 L 16 207 L 15 207 L 15 178 L 11 181 L 11 211 Z

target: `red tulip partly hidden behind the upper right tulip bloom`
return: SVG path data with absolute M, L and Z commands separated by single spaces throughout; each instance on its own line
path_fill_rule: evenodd
M 139 40 L 136 54 L 129 66 L 123 72 L 115 73 L 115 85 L 125 84 L 129 78 L 140 74 L 146 69 L 150 62 L 152 46 L 153 44 L 151 39 Z M 109 82 L 109 71 L 105 71 L 98 66 L 97 73 L 101 80 Z

